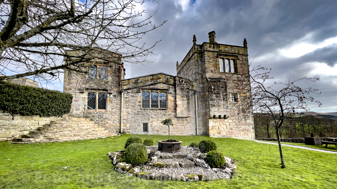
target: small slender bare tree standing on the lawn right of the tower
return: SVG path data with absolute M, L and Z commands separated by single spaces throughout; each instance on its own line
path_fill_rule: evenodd
M 253 112 L 260 112 L 261 115 L 269 114 L 272 117 L 280 150 L 281 168 L 285 168 L 279 128 L 288 115 L 297 113 L 299 109 L 308 111 L 307 102 L 317 103 L 318 106 L 321 105 L 319 101 L 311 96 L 314 93 L 320 93 L 317 89 L 312 87 L 302 88 L 297 84 L 305 80 L 315 82 L 319 78 L 304 77 L 295 81 L 290 81 L 289 79 L 286 82 L 268 84 L 273 79 L 273 77 L 269 76 L 270 71 L 271 69 L 261 66 L 251 69 L 249 77 L 245 78 L 250 79 L 252 95 L 241 98 L 241 104 L 245 104 L 245 106 L 240 107 L 239 112 L 245 117 L 250 117 L 252 116 L 251 109 L 253 109 Z M 247 104 L 248 106 L 246 106 Z

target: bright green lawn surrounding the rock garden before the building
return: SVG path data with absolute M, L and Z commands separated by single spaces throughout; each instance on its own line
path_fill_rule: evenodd
M 168 138 L 139 136 L 143 139 L 151 137 L 154 141 Z M 332 189 L 337 186 L 336 154 L 283 147 L 287 167 L 281 169 L 277 145 L 228 138 L 211 139 L 218 145 L 218 150 L 235 160 L 238 168 L 234 177 L 229 180 L 178 182 L 141 180 L 117 174 L 115 171 L 111 174 L 113 166 L 107 160 L 106 154 L 122 150 L 128 137 L 130 135 L 25 145 L 1 142 L 0 188 Z M 205 138 L 208 137 L 171 136 L 171 139 L 183 141 L 184 146 Z M 47 159 L 54 160 L 43 161 Z M 108 174 L 105 175 L 106 173 Z

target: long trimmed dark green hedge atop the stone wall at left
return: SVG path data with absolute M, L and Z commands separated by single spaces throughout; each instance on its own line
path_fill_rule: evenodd
M 0 110 L 12 114 L 58 116 L 70 112 L 72 95 L 0 81 Z

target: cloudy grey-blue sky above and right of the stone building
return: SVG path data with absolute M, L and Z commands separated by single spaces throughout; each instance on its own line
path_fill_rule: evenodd
M 127 78 L 164 72 L 176 75 L 176 62 L 183 60 L 196 35 L 197 44 L 208 42 L 208 32 L 216 32 L 216 42 L 242 46 L 247 38 L 252 65 L 272 68 L 276 80 L 319 77 L 303 87 L 321 91 L 316 96 L 323 105 L 309 104 L 310 111 L 337 111 L 337 1 L 336 0 L 165 0 L 148 1 L 152 24 L 160 28 L 146 34 L 142 42 L 155 47 L 152 63 L 127 64 Z M 48 88 L 62 90 L 63 83 Z

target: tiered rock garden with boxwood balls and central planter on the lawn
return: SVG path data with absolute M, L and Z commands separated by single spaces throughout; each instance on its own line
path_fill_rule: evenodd
M 141 179 L 207 181 L 229 179 L 236 166 L 216 150 L 211 140 L 182 146 L 178 152 L 162 152 L 152 139 L 127 139 L 125 150 L 109 152 L 115 171 Z

